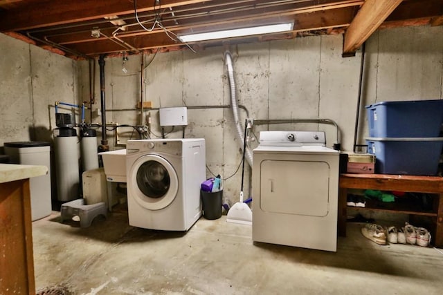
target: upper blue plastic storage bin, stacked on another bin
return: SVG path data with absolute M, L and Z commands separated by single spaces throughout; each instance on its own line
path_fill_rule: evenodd
M 437 137 L 443 99 L 379 102 L 365 106 L 370 137 Z

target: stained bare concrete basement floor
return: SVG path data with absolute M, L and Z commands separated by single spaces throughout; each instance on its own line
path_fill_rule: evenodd
M 54 211 L 33 222 L 36 287 L 66 294 L 442 294 L 441 249 L 380 246 L 360 227 L 350 223 L 332 253 L 253 243 L 251 227 L 226 216 L 202 217 L 185 234 L 130 227 L 125 207 L 85 229 L 60 223 Z

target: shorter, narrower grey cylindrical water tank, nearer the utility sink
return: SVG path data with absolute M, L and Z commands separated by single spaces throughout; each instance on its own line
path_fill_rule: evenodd
M 82 156 L 82 171 L 98 168 L 98 145 L 96 131 L 93 129 L 82 130 L 80 151 Z

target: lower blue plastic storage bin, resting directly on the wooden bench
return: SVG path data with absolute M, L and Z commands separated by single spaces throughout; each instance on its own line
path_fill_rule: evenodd
M 375 155 L 381 174 L 436 175 L 443 137 L 368 138 L 368 153 Z

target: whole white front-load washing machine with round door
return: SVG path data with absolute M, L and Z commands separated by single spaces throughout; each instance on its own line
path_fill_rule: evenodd
M 165 231 L 190 229 L 201 216 L 205 140 L 129 140 L 126 150 L 129 225 Z

